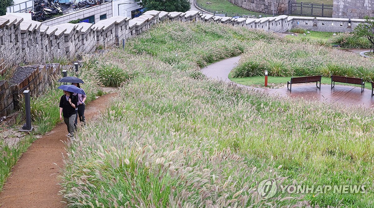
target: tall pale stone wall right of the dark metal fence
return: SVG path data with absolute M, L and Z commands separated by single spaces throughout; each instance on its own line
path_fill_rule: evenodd
M 364 18 L 374 16 L 373 0 L 334 0 L 332 17 L 334 18 Z

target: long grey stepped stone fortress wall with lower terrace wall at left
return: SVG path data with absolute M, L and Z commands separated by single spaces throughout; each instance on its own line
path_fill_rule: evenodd
M 151 10 L 134 19 L 114 16 L 95 24 L 63 23 L 57 26 L 46 26 L 40 22 L 5 15 L 0 16 L 0 73 L 4 74 L 6 70 L 19 64 L 43 64 L 62 57 L 73 58 L 79 54 L 91 53 L 97 45 L 120 45 L 123 39 L 138 35 L 160 21 L 202 21 L 271 32 L 286 32 L 292 27 L 303 27 L 314 31 L 351 32 L 356 25 L 364 22 L 362 19 L 286 15 L 259 19 L 234 19 L 202 14 L 197 11 L 183 13 Z M 0 117 L 7 116 L 14 107 L 17 107 L 22 90 L 36 89 L 33 95 L 40 95 L 44 89 L 43 86 L 50 84 L 46 77 L 60 73 L 59 67 L 57 67 L 58 72 L 56 67 L 47 68 L 48 70 L 37 69 L 31 77 L 25 79 L 26 81 L 19 82 L 17 87 L 9 86 L 6 81 L 0 81 L 3 83 L 0 88 Z M 37 79 L 40 81 L 35 81 Z

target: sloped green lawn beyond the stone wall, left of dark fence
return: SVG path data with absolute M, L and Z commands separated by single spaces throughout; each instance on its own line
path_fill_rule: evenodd
M 246 10 L 242 7 L 236 6 L 232 3 L 230 3 L 227 0 L 209 0 L 211 4 L 206 4 L 207 0 L 196 0 L 196 3 L 198 4 L 198 7 L 202 7 L 203 9 L 209 9 L 217 12 L 230 12 L 230 13 L 257 13 L 258 12 L 252 12 L 249 10 Z M 201 6 L 200 6 L 201 5 Z M 240 14 L 239 14 L 240 15 Z

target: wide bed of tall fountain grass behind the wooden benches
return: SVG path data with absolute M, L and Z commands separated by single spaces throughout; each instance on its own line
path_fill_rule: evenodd
M 272 48 L 272 50 L 267 50 Z M 257 42 L 248 50 L 231 73 L 232 78 L 262 76 L 264 70 L 271 76 L 331 75 L 374 79 L 372 59 L 351 52 L 338 51 L 308 42 Z M 254 67 L 252 67 L 254 66 Z M 258 73 L 250 73 L 257 70 Z M 261 72 L 261 73 L 260 73 Z

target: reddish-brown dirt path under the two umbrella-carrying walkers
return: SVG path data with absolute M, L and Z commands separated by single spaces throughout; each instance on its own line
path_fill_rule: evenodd
M 85 117 L 91 119 L 104 109 L 115 93 L 103 95 L 86 107 Z M 65 207 L 57 185 L 62 154 L 65 154 L 67 129 L 58 124 L 52 132 L 35 141 L 13 167 L 12 174 L 0 193 L 1 208 L 60 208 Z

